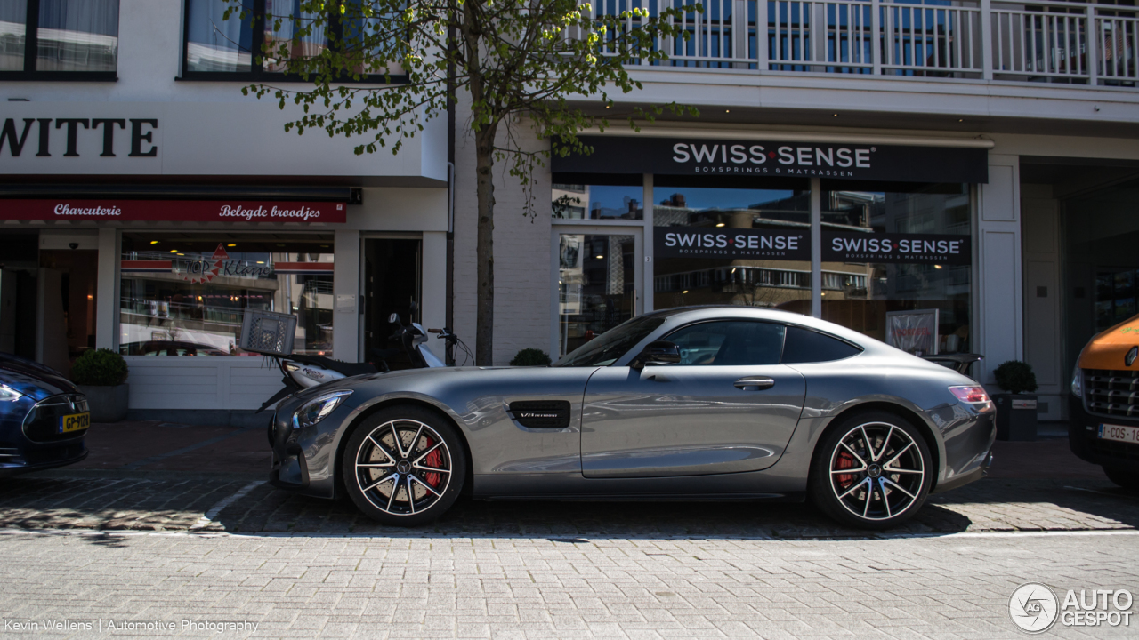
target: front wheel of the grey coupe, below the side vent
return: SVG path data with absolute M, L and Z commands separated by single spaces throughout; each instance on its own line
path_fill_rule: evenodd
M 355 506 L 391 526 L 439 518 L 459 497 L 467 471 L 454 426 L 419 407 L 384 409 L 357 426 L 342 470 Z

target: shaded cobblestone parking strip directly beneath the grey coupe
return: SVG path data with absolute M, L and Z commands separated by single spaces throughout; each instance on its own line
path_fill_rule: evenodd
M 279 491 L 248 477 L 57 471 L 0 483 L 0 527 L 407 535 L 346 501 Z M 208 522 L 203 517 L 208 512 Z M 935 494 L 895 533 L 1128 530 L 1139 495 L 1106 481 L 984 479 Z M 862 536 L 809 504 L 481 502 L 460 500 L 426 530 L 441 535 Z M 411 533 L 418 535 L 418 533 Z

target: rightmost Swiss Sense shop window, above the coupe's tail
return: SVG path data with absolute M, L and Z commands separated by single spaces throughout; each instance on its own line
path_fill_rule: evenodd
M 823 187 L 822 318 L 919 355 L 969 352 L 968 186 Z

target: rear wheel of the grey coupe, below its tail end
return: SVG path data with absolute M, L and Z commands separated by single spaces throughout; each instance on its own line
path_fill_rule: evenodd
M 819 509 L 842 524 L 884 530 L 921 508 L 934 471 L 916 427 L 893 413 L 865 412 L 823 434 L 810 493 Z

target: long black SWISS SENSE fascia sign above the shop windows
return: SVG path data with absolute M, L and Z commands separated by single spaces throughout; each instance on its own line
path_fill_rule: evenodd
M 985 149 L 644 136 L 581 140 L 593 153 L 555 154 L 554 172 L 989 182 Z

